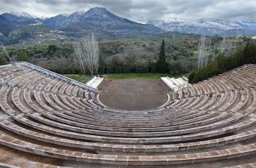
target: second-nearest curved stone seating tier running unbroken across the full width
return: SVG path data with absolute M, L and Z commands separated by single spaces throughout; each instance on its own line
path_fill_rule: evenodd
M 64 145 L 68 147 L 74 148 L 84 148 L 84 149 L 93 149 L 96 151 L 116 151 L 116 152 L 129 152 L 129 153 L 159 153 L 159 152 L 170 152 L 170 151 L 189 151 L 192 149 L 200 149 L 200 148 L 212 148 L 215 146 L 227 145 L 236 143 L 242 140 L 249 140 L 256 136 L 256 130 L 242 132 L 237 135 L 231 135 L 225 138 L 219 138 L 215 140 L 205 140 L 200 141 L 200 143 L 178 143 L 178 144 L 170 144 L 170 145 L 115 145 L 115 144 L 102 144 L 102 143 L 87 143 L 76 140 L 68 140 L 62 137 L 53 137 L 50 135 L 45 135 L 43 133 L 34 132 L 29 129 L 24 129 L 16 124 L 12 124 L 8 120 L 1 119 L 1 127 L 10 130 L 11 132 L 15 132 L 18 135 L 26 136 L 31 139 L 39 139 L 46 143 L 53 143 L 56 145 Z

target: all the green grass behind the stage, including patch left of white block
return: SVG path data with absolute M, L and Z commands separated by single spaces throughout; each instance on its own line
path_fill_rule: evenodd
M 78 75 L 65 75 L 65 76 L 83 83 L 86 83 L 92 78 L 91 76 L 78 76 Z M 186 74 L 170 75 L 167 73 L 113 73 L 113 74 L 105 74 L 104 76 L 105 78 L 108 78 L 108 79 L 160 79 L 160 77 L 162 76 L 178 78 L 181 76 L 189 76 L 189 74 L 186 73 Z

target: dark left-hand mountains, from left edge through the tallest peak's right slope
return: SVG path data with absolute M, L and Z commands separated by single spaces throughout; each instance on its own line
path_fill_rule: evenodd
M 40 24 L 42 23 L 42 24 Z M 141 35 L 152 35 L 163 32 L 154 25 L 136 23 L 123 17 L 118 17 L 107 9 L 94 7 L 88 11 L 78 11 L 72 14 L 60 14 L 54 17 L 40 19 L 26 12 L 10 12 L 0 15 L 0 32 L 8 39 L 10 34 L 48 28 L 53 31 L 63 31 L 70 38 L 79 38 L 88 33 L 95 33 L 99 39 L 118 39 Z M 39 30 L 36 28 L 36 30 Z M 31 35 L 33 36 L 33 35 Z

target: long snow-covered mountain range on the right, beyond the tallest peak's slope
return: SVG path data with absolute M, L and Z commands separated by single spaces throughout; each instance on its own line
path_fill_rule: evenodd
M 232 35 L 230 33 L 233 33 L 234 36 L 246 36 L 256 32 L 256 21 L 247 20 L 234 21 L 214 18 L 188 20 L 182 18 L 170 18 L 167 20 L 148 20 L 147 23 L 162 28 L 165 31 L 179 31 L 181 33 L 198 33 L 205 35 Z

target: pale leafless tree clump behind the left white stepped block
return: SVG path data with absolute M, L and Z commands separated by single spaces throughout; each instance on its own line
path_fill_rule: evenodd
M 75 55 L 78 57 L 80 68 L 83 73 L 89 71 L 91 76 L 98 73 L 99 68 L 99 47 L 94 39 L 94 34 L 86 36 L 80 41 L 75 42 Z

